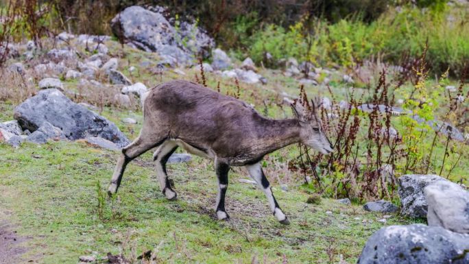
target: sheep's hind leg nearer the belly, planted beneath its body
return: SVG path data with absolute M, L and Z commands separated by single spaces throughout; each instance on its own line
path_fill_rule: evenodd
M 178 145 L 174 141 L 165 141 L 156 152 L 153 154 L 153 160 L 156 167 L 156 176 L 158 177 L 158 182 L 160 183 L 160 189 L 163 191 L 163 194 L 168 200 L 176 200 L 178 197 L 177 193 L 171 189 L 169 184 L 168 174 L 166 171 L 166 163 L 173 154 L 174 151 L 178 148 Z

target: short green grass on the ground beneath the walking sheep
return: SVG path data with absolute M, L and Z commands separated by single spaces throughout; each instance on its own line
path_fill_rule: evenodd
M 354 262 L 366 239 L 383 226 L 376 221 L 382 215 L 359 205 L 328 199 L 306 204 L 308 195 L 300 189 L 283 192 L 274 186 L 292 221 L 282 226 L 263 193 L 238 182 L 246 178 L 239 172 L 230 173 L 226 206 L 232 220 L 218 221 L 210 163 L 195 158 L 170 165 L 179 199 L 169 202 L 154 179 L 149 154 L 128 166 L 117 198 L 106 197 L 100 216 L 99 192 L 106 189 L 117 156 L 77 142 L 0 145 L 0 209 L 10 213 L 19 235 L 30 238 L 24 262 L 76 263 L 90 251 L 105 256 L 123 248 L 129 256 L 158 245 L 158 258 L 171 263 L 250 263 L 253 256 L 280 262 L 283 254 L 289 263 L 328 263 L 328 250 L 335 261 L 343 254 Z M 409 223 L 395 215 L 388 220 Z

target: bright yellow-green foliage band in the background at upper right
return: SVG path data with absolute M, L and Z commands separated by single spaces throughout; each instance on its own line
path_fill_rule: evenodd
M 263 60 L 269 52 L 278 60 L 295 57 L 319 64 L 352 67 L 371 56 L 398 62 L 403 53 L 418 56 L 429 41 L 427 59 L 437 72 L 459 73 L 469 60 L 468 11 L 430 12 L 418 8 L 391 9 L 372 23 L 356 16 L 330 24 L 316 19 L 300 20 L 284 29 L 267 25 L 251 37 L 249 56 Z

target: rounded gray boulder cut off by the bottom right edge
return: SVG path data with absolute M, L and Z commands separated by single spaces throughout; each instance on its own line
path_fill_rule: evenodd
M 467 264 L 469 235 L 437 226 L 387 226 L 368 239 L 359 264 Z

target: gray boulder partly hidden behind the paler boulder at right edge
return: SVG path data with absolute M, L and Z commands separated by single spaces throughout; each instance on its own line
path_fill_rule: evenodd
M 407 174 L 398 178 L 400 213 L 409 217 L 425 218 L 428 204 L 423 189 L 429 184 L 447 181 L 437 175 Z

